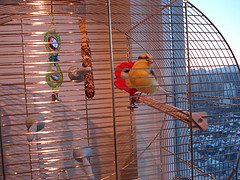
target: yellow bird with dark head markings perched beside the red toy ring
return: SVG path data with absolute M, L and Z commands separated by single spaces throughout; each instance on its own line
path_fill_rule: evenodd
M 158 82 L 151 69 L 152 56 L 142 54 L 138 57 L 138 61 L 134 63 L 129 71 L 129 79 L 126 84 L 129 87 L 136 88 L 138 91 L 146 94 L 152 94 L 158 90 Z

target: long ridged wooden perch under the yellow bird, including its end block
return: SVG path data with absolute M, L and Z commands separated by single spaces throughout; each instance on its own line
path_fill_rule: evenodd
M 207 130 L 207 113 L 206 112 L 193 112 L 190 117 L 190 112 L 183 111 L 175 106 L 169 104 L 159 103 L 158 101 L 151 99 L 149 97 L 140 96 L 137 99 L 138 103 L 144 103 L 154 109 L 157 109 L 163 113 L 166 113 L 169 116 L 172 116 L 180 121 L 190 124 L 192 123 L 193 130 Z

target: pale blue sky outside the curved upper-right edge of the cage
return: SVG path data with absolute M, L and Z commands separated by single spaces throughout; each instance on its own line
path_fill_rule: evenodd
M 240 64 L 240 0 L 188 0 L 218 28 Z

